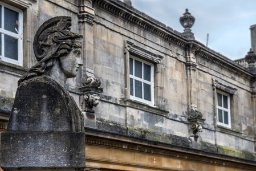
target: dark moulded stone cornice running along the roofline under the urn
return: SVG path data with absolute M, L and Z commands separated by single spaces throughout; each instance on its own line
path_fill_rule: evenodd
M 251 80 L 251 78 L 254 77 L 254 75 L 245 68 L 239 66 L 237 63 L 226 58 L 225 56 L 210 50 L 209 48 L 205 47 L 204 44 L 201 44 L 196 40 L 186 39 L 185 36 L 180 32 L 175 31 L 170 27 L 166 27 L 161 22 L 156 21 L 148 15 L 141 13 L 132 6 L 128 6 L 119 0 L 94 0 L 93 6 L 99 6 L 102 9 L 117 15 L 117 17 L 123 18 L 125 21 L 129 21 L 134 25 L 141 27 L 143 30 L 152 32 L 152 34 L 160 36 L 166 41 L 176 44 L 182 48 L 186 48 L 188 44 L 192 43 L 193 48 L 196 50 L 196 55 L 201 56 L 209 62 L 216 63 L 218 66 L 248 80 Z

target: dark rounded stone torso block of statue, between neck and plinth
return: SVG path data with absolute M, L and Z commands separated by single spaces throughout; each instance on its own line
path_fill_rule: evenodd
M 18 87 L 7 131 L 40 132 L 83 129 L 75 101 L 54 80 L 38 76 Z

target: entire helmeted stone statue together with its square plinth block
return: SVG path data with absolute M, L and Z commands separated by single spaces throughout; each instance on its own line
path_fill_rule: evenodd
M 1 134 L 5 170 L 85 168 L 84 115 L 63 88 L 82 66 L 82 35 L 70 26 L 71 17 L 54 17 L 35 34 L 38 63 L 19 79 L 7 131 Z

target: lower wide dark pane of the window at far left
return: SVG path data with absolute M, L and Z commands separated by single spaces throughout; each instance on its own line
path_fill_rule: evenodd
M 18 39 L 5 35 L 5 56 L 18 60 Z

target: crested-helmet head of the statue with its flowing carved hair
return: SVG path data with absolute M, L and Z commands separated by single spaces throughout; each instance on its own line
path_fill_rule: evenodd
M 82 35 L 70 31 L 71 17 L 59 16 L 49 19 L 36 31 L 33 48 L 38 63 L 19 80 L 48 75 L 56 63 L 67 78 L 75 77 L 79 66 Z

